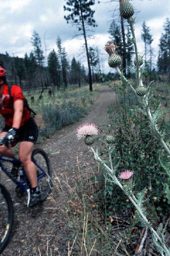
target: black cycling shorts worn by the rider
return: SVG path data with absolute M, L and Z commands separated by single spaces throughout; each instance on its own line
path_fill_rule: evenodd
M 9 129 L 11 129 L 11 127 L 5 125 L 5 127 L 2 129 L 2 132 L 8 132 Z M 16 142 L 31 141 L 35 144 L 37 141 L 37 137 L 38 127 L 34 121 L 34 118 L 31 117 L 26 122 L 26 124 L 24 124 L 18 129 L 18 138 Z

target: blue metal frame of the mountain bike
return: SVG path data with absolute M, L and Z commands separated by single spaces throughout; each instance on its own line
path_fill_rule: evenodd
M 39 181 L 40 178 L 44 177 L 46 175 L 45 170 L 43 170 L 39 164 L 37 164 L 37 162 L 34 159 L 31 159 L 34 164 L 38 167 L 38 169 L 40 169 L 42 171 L 42 174 L 40 174 L 37 177 L 37 180 Z M 24 191 L 26 191 L 28 193 L 28 190 L 30 189 L 30 184 L 27 184 L 27 177 L 26 177 L 26 173 L 23 169 L 23 179 L 22 181 L 19 181 L 17 178 L 14 178 L 13 175 L 11 175 L 11 173 L 9 172 L 8 168 L 1 162 L 1 161 L 6 161 L 6 162 L 11 162 L 11 163 L 20 163 L 19 159 L 14 159 L 14 158 L 9 158 L 6 156 L 2 156 L 0 155 L 0 170 L 3 170 L 4 173 L 6 173 L 6 175 L 19 187 L 21 187 Z

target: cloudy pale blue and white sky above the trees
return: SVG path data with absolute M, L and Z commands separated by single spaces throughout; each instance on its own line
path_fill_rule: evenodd
M 31 36 L 36 30 L 41 37 L 44 54 L 46 52 L 48 55 L 52 49 L 57 51 L 56 39 L 59 36 L 68 53 L 68 59 L 71 61 L 74 56 L 86 66 L 85 58 L 79 55 L 84 41 L 74 37 L 77 34 L 76 28 L 68 25 L 64 19 L 65 0 L 0 0 L 0 3 L 0 53 L 8 52 L 11 56 L 19 57 L 24 57 L 26 52 L 29 54 L 33 49 Z M 166 18 L 170 17 L 170 0 L 133 0 L 133 6 L 136 11 L 135 32 L 139 52 L 144 52 L 141 31 L 145 21 L 153 35 L 152 47 L 157 56 L 163 25 Z M 91 32 L 94 38 L 88 43 L 98 46 L 104 71 L 109 71 L 104 46 L 109 40 L 108 29 L 113 17 L 119 20 L 118 8 L 119 2 L 115 0 L 101 0 L 100 4 L 96 3 L 93 7 L 98 27 Z

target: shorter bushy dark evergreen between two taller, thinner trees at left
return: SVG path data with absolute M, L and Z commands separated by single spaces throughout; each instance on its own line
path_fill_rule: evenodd
M 54 51 L 54 49 L 48 55 L 48 71 L 54 85 L 56 85 L 57 89 L 59 89 L 60 65 L 57 53 Z

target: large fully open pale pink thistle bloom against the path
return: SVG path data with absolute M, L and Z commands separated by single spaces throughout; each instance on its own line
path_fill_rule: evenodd
M 98 127 L 96 124 L 92 123 L 83 123 L 77 127 L 77 138 L 80 140 L 81 138 L 85 138 L 86 135 L 97 135 Z

